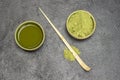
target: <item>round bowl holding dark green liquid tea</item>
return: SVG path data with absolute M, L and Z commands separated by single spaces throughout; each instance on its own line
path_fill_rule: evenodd
M 27 51 L 33 51 L 42 46 L 45 33 L 42 26 L 35 21 L 21 23 L 15 31 L 15 42 Z

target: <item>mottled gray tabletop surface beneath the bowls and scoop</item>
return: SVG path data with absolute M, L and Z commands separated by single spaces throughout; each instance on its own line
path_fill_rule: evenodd
M 68 42 L 81 50 L 81 58 L 92 67 L 63 57 L 65 45 L 38 11 L 46 12 Z M 65 28 L 68 15 L 78 9 L 93 14 L 97 29 L 79 41 Z M 39 22 L 46 33 L 44 45 L 34 52 L 20 49 L 14 31 L 23 21 Z M 120 0 L 0 0 L 0 80 L 120 80 Z

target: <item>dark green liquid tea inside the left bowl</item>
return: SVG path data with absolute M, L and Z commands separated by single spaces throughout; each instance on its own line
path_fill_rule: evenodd
M 43 31 L 37 24 L 24 24 L 17 32 L 17 40 L 23 48 L 36 48 L 43 40 Z

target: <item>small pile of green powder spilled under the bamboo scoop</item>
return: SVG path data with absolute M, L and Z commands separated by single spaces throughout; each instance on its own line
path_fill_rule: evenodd
M 73 48 L 73 50 L 77 53 L 80 54 L 80 51 L 78 48 L 76 48 L 75 46 L 71 46 Z M 69 61 L 75 61 L 75 57 L 73 56 L 73 54 L 71 53 L 71 51 L 65 47 L 64 49 L 64 58 L 69 60 Z

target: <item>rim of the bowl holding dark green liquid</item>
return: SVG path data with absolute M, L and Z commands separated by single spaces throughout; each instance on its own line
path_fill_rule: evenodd
M 18 32 L 19 29 L 22 27 L 22 25 L 24 25 L 24 24 L 26 24 L 26 23 L 34 23 L 34 24 L 38 25 L 38 27 L 42 30 L 42 33 L 43 33 L 42 42 L 41 42 L 38 46 L 36 46 L 35 48 L 31 48 L 31 49 L 25 48 L 25 47 L 23 47 L 22 45 L 20 45 L 20 43 L 19 43 L 18 40 L 17 40 L 17 32 Z M 15 37 L 15 42 L 17 43 L 17 45 L 18 45 L 20 48 L 22 48 L 23 50 L 26 50 L 26 51 L 34 51 L 34 50 L 40 48 L 40 47 L 43 45 L 43 43 L 44 43 L 44 41 L 45 41 L 45 32 L 44 32 L 43 27 L 42 27 L 38 22 L 29 20 L 29 21 L 24 21 L 24 22 L 22 22 L 22 23 L 20 23 L 20 24 L 18 25 L 18 27 L 17 27 L 16 30 L 15 30 L 14 37 Z

